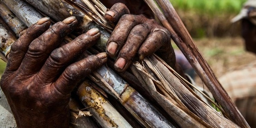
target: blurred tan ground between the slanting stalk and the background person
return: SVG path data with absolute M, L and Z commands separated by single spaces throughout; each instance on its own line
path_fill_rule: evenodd
M 217 77 L 256 60 L 255 54 L 245 51 L 241 37 L 194 39 L 194 42 Z M 202 84 L 199 77 L 195 82 Z

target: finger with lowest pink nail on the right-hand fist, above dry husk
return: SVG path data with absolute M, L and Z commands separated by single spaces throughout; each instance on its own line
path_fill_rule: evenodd
M 140 45 L 146 40 L 150 31 L 151 28 L 147 23 L 139 24 L 131 30 L 115 62 L 115 69 L 117 71 L 125 71 L 130 66 L 132 58 L 135 57 Z

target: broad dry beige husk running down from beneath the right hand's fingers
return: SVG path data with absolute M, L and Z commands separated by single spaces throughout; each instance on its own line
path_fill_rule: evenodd
M 171 102 L 174 104 L 176 102 L 176 106 L 179 106 L 179 108 L 188 113 L 188 115 L 197 119 L 202 125 L 207 123 L 211 127 L 238 127 L 232 121 L 224 118 L 217 111 L 202 102 L 189 86 L 186 85 L 183 80 L 179 79 L 177 73 L 167 64 L 164 64 L 162 60 L 157 59 L 155 56 L 149 56 L 144 59 L 143 65 L 137 62 L 134 66 L 140 69 L 136 71 L 136 68 L 133 67 L 132 70 L 134 74 L 137 74 L 137 78 L 140 82 L 142 81 L 141 83 L 148 87 L 147 89 L 151 92 L 150 94 L 152 94 L 153 97 L 158 95 L 157 99 L 162 97 L 162 100 L 159 99 L 158 102 L 161 101 L 159 104 L 162 105 L 167 112 L 170 111 L 170 108 L 167 109 L 164 104 L 168 102 L 170 102 L 169 104 L 171 104 Z M 152 74 L 155 76 L 152 76 Z M 156 91 L 156 88 L 162 91 L 162 95 Z M 166 98 L 169 98 L 169 101 Z M 165 99 L 164 103 L 163 99 Z M 172 106 L 175 107 L 174 105 Z M 171 112 L 174 113 L 173 111 Z M 175 119 L 177 117 L 173 118 Z M 181 119 L 177 119 L 176 122 L 181 125 L 181 127 L 187 127 L 185 122 Z M 188 126 L 193 126 L 193 123 L 196 123 L 196 121 L 191 121 L 191 123 L 192 124 L 188 124 Z M 198 123 L 196 123 L 196 125 L 198 125 Z

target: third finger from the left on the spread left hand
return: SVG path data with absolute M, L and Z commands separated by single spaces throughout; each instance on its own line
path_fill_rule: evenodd
M 75 38 L 70 43 L 55 49 L 44 66 L 38 73 L 38 81 L 45 83 L 53 82 L 55 77 L 60 73 L 60 70 L 78 54 L 94 45 L 100 37 L 100 31 L 97 28 L 89 30 L 87 33 L 82 34 Z

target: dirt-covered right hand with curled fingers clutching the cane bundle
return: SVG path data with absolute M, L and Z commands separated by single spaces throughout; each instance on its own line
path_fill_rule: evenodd
M 115 69 L 125 71 L 135 56 L 139 60 L 156 52 L 175 69 L 175 54 L 170 42 L 170 33 L 154 19 L 144 15 L 132 15 L 122 3 L 114 4 L 104 18 L 117 23 L 107 42 L 107 54 L 117 56 Z

